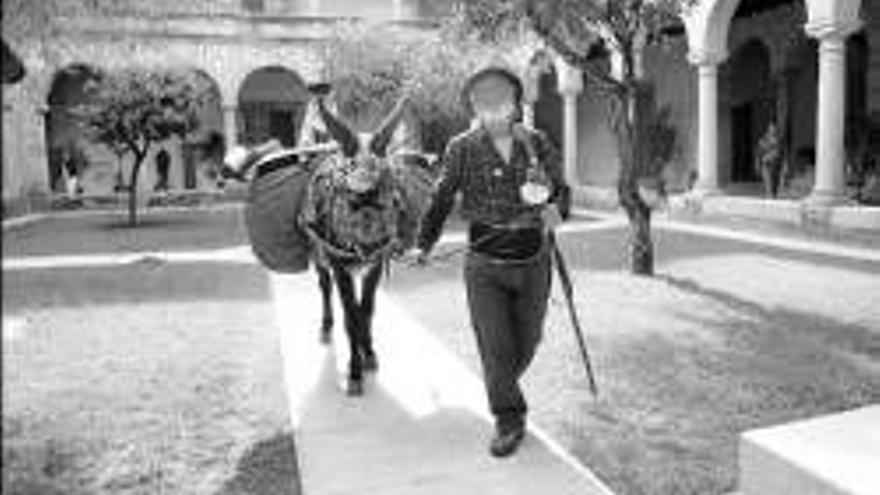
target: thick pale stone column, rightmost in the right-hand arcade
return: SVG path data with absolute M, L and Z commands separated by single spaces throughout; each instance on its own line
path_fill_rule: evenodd
M 823 27 L 807 33 L 819 39 L 819 98 L 816 116 L 816 179 L 808 203 L 833 205 L 846 197 L 844 125 L 846 119 L 846 37 Z

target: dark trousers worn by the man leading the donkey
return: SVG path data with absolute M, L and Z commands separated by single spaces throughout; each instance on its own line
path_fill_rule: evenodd
M 541 340 L 550 281 L 546 247 L 525 262 L 499 263 L 473 252 L 465 262 L 468 307 L 489 407 L 502 431 L 525 421 L 527 405 L 519 379 Z

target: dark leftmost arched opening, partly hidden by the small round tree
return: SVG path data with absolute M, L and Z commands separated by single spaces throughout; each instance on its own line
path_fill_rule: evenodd
M 61 192 L 65 177 L 79 176 L 83 164 L 71 157 L 71 150 L 81 149 L 86 142 L 85 128 L 76 109 L 89 102 L 87 85 L 100 75 L 100 70 L 85 63 L 72 63 L 55 72 L 46 95 L 44 132 L 46 142 L 49 188 Z

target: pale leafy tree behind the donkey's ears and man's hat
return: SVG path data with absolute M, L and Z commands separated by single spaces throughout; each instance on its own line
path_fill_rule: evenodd
M 340 113 L 371 129 L 406 92 L 419 119 L 425 151 L 440 153 L 468 125 L 461 106 L 464 81 L 507 46 L 463 39 L 448 23 L 435 32 L 342 23 L 324 45 L 324 77 Z

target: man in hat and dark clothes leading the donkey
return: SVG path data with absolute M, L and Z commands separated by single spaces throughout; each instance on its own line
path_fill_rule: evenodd
M 546 137 L 518 123 L 522 83 L 490 67 L 465 84 L 474 125 L 453 138 L 422 220 L 419 261 L 440 237 L 457 193 L 469 223 L 465 285 L 471 323 L 495 417 L 490 452 L 516 451 L 527 405 L 519 379 L 541 340 L 551 282 L 547 222 L 568 214 L 559 156 Z

